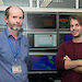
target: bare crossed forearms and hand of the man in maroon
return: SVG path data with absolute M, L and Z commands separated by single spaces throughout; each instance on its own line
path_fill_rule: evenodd
M 65 69 L 69 70 L 72 69 L 73 71 L 78 73 L 82 73 L 82 60 L 71 60 L 67 55 L 63 57 L 65 60 Z

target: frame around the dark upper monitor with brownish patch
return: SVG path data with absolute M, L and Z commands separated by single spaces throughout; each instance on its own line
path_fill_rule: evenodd
M 54 27 L 45 27 L 45 28 L 39 28 L 39 27 L 35 27 L 35 28 L 31 28 L 31 27 L 28 27 L 28 14 L 36 14 L 36 15 L 55 15 L 55 26 Z M 57 19 L 57 16 L 56 16 L 56 13 L 49 13 L 49 12 L 28 12 L 27 13 L 27 25 L 26 25 L 26 28 L 27 28 L 27 31 L 42 31 L 42 32 L 54 32 L 54 31 L 56 31 L 57 30 L 57 21 L 56 21 L 56 19 Z M 36 20 L 36 19 L 35 19 Z

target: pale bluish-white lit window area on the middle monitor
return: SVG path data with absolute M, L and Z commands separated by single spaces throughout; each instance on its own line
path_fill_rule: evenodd
M 35 47 L 55 47 L 57 46 L 57 35 L 35 35 Z

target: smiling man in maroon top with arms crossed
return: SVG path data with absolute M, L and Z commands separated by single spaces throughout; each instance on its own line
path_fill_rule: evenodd
M 59 46 L 56 66 L 61 82 L 82 82 L 82 15 L 70 16 L 70 32 L 73 38 Z

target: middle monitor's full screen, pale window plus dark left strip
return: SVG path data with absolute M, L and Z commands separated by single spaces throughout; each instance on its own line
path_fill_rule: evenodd
M 55 48 L 57 47 L 56 34 L 27 34 L 31 48 Z

